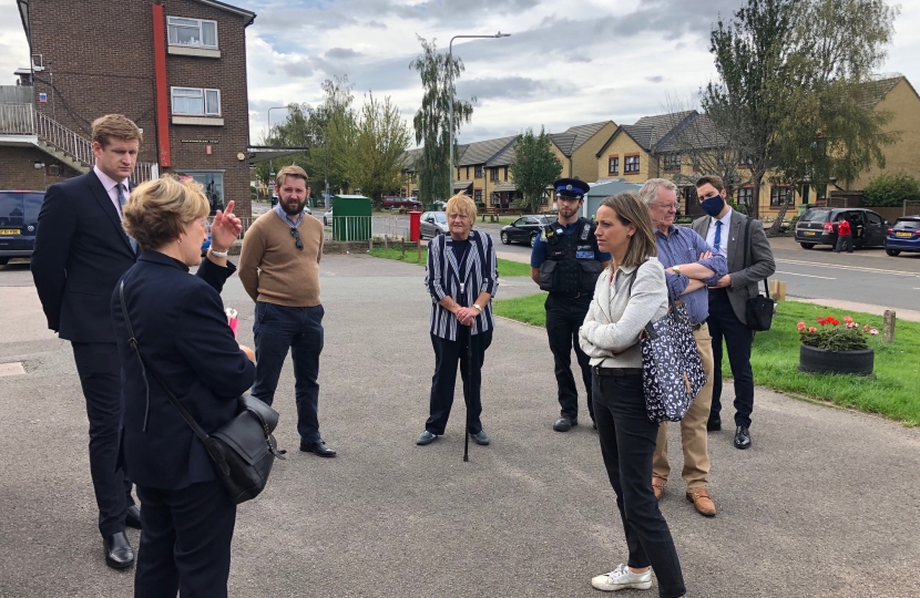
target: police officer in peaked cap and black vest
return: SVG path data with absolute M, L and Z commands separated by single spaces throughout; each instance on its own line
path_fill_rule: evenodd
M 591 402 L 591 365 L 579 347 L 579 329 L 584 323 L 594 296 L 594 285 L 610 264 L 610 254 L 601 252 L 594 238 L 596 225 L 579 216 L 587 183 L 577 178 L 560 178 L 553 183 L 559 207 L 558 220 L 546 225 L 533 244 L 530 276 L 549 291 L 546 297 L 546 336 L 555 361 L 559 386 L 556 432 L 568 432 L 579 423 L 579 390 L 572 375 L 572 347 L 582 370 L 587 413 L 594 420 Z M 596 426 L 595 426 L 596 429 Z

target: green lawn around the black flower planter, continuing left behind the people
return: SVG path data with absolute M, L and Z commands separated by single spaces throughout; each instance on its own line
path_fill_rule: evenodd
M 493 309 L 498 316 L 542 327 L 545 324 L 544 300 L 545 293 L 500 299 L 494 301 Z M 804 321 L 808 326 L 817 326 L 816 319 L 827 315 L 840 320 L 844 316 L 851 316 L 860 326 L 868 323 L 881 330 L 880 316 L 845 312 L 798 301 L 780 301 L 770 330 L 758 332 L 754 339 L 750 365 L 755 383 L 808 399 L 831 401 L 841 406 L 878 413 L 907 425 L 920 425 L 920 323 L 899 320 L 893 343 L 882 342 L 881 334 L 870 338 L 869 346 L 876 352 L 875 377 L 799 372 L 801 343 L 796 323 Z M 727 355 L 723 361 L 723 375 L 732 375 Z M 729 403 L 730 388 L 727 385 L 725 389 Z

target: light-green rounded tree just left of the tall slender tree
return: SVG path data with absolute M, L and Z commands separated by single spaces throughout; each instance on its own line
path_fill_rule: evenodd
M 402 186 L 402 155 L 409 146 L 409 127 L 387 96 L 374 94 L 361 106 L 350 152 L 345 158 L 348 181 L 378 203 L 380 196 Z

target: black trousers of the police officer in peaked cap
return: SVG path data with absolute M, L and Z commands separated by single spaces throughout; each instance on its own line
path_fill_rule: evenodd
M 582 371 L 584 391 L 587 394 L 587 413 L 594 419 L 594 403 L 591 400 L 591 364 L 589 357 L 579 346 L 579 329 L 587 316 L 591 297 L 571 298 L 559 293 L 546 296 L 546 337 L 553 352 L 555 382 L 559 389 L 560 415 L 579 416 L 579 389 L 572 375 L 572 348 Z

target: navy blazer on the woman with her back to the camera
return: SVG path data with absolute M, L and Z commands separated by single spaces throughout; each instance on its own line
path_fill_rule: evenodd
M 139 486 L 180 489 L 216 478 L 204 444 L 150 370 L 156 371 L 205 432 L 214 432 L 236 415 L 237 399 L 252 386 L 256 368 L 239 350 L 221 300 L 221 289 L 235 270 L 231 262 L 222 268 L 205 259 L 198 276 L 190 276 L 176 259 L 159 251 L 141 252 L 121 280 L 147 365 L 146 378 L 127 344 L 119 285 L 110 296 L 122 362 L 121 458 Z

